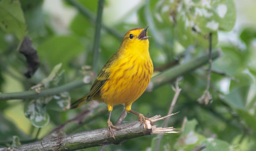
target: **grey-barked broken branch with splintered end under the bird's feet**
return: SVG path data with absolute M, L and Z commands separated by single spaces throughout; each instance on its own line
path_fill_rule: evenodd
M 150 118 L 153 122 L 157 122 L 159 120 L 163 120 L 169 116 L 162 117 L 154 116 Z M 177 133 L 174 131 L 173 127 L 169 128 L 157 128 L 156 126 L 151 126 L 150 121 L 147 120 L 148 129 L 144 129 L 144 127 L 140 124 L 139 121 L 130 122 L 126 124 L 119 125 L 118 130 L 114 129 L 114 133 L 116 136 L 116 140 L 112 137 L 107 137 L 107 129 L 97 129 L 93 131 L 86 131 L 82 133 L 76 133 L 74 135 L 63 136 L 63 137 L 55 137 L 52 139 L 37 141 L 30 144 L 24 144 L 18 147 L 13 148 L 0 148 L 0 151 L 31 151 L 31 150 L 59 150 L 59 151 L 67 151 L 67 150 L 79 150 L 83 148 L 89 148 L 94 146 L 103 146 L 107 144 L 120 144 L 123 141 L 132 139 L 135 137 L 152 135 L 152 134 L 167 134 L 167 133 Z M 143 124 L 144 125 L 144 124 Z

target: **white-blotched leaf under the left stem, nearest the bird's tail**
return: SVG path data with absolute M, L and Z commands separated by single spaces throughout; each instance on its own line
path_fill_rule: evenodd
M 69 109 L 70 96 L 68 92 L 54 95 L 52 100 L 47 104 L 46 108 L 55 111 L 65 111 Z

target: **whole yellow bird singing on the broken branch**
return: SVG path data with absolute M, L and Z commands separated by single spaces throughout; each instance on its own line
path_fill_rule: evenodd
M 147 128 L 146 120 L 149 119 L 131 110 L 132 103 L 146 90 L 153 74 L 147 29 L 148 27 L 129 30 L 117 52 L 101 69 L 90 93 L 71 104 L 71 109 L 74 109 L 92 99 L 106 103 L 109 111 L 108 137 L 111 132 L 114 139 L 112 128 L 119 129 L 110 121 L 114 105 L 124 104 L 125 110 L 139 116 L 139 121 L 144 122 Z

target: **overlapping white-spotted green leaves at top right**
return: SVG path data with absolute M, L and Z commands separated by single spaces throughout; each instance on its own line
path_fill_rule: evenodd
M 213 33 L 212 45 L 217 44 L 217 31 L 230 31 L 236 21 L 236 10 L 233 0 L 182 1 L 172 8 L 177 14 L 175 35 L 185 47 L 189 45 L 208 46 L 208 34 Z M 166 9 L 166 5 L 163 5 Z M 163 9 L 162 8 L 162 9 Z M 173 11 L 171 10 L 171 11 Z

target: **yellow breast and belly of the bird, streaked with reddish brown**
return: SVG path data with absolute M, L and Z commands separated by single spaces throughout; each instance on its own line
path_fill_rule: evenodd
M 123 56 L 112 65 L 109 80 L 101 88 L 101 100 L 108 105 L 134 102 L 146 90 L 153 74 L 153 63 L 146 56 Z

